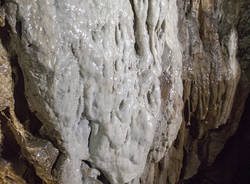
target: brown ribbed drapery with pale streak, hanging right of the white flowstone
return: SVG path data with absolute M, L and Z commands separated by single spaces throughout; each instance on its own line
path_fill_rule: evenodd
M 201 164 L 213 163 L 226 141 L 227 135 L 216 140 L 210 132 L 227 122 L 240 76 L 235 27 L 238 5 L 234 3 L 234 9 L 226 14 L 229 4 L 232 1 L 185 4 L 190 8 L 185 18 L 189 22 L 187 34 L 183 34 L 190 40 L 184 41 L 190 45 L 183 59 L 184 118 L 190 126 L 185 145 L 185 179 L 192 177 Z

